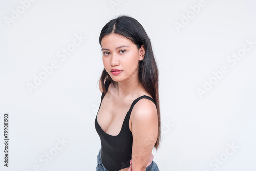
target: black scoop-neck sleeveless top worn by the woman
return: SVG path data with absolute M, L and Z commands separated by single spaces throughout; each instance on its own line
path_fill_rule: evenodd
M 109 84 L 109 81 L 105 82 L 106 90 L 108 90 Z M 100 106 L 104 96 L 105 95 L 102 92 Z M 130 160 L 132 159 L 133 136 L 132 132 L 129 129 L 129 118 L 133 106 L 142 98 L 147 98 L 155 103 L 154 99 L 146 95 L 140 96 L 135 99 L 124 118 L 120 133 L 116 136 L 109 135 L 101 129 L 97 121 L 97 115 L 99 110 L 97 112 L 95 118 L 95 129 L 99 134 L 101 141 L 101 160 L 102 164 L 109 171 L 118 171 L 130 166 Z

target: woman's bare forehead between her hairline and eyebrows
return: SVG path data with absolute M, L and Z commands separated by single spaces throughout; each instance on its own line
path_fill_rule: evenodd
M 102 48 L 116 48 L 119 47 L 120 45 L 127 45 L 129 47 L 135 46 L 135 44 L 127 39 L 126 37 L 119 35 L 119 34 L 114 34 L 111 33 L 101 40 L 101 46 Z

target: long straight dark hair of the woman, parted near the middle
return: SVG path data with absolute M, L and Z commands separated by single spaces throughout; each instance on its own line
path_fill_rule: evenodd
M 110 20 L 101 30 L 99 36 L 99 44 L 106 35 L 111 33 L 119 34 L 134 42 L 139 49 L 142 45 L 145 48 L 145 57 L 139 61 L 139 81 L 145 90 L 153 97 L 157 106 L 158 118 L 158 136 L 154 145 L 158 149 L 161 139 L 161 121 L 160 121 L 160 108 L 159 108 L 159 95 L 158 95 L 158 68 L 151 47 L 150 38 L 148 38 L 143 26 L 134 18 L 121 15 L 115 19 Z M 117 82 L 111 79 L 110 75 L 104 69 L 102 71 L 100 81 L 103 93 L 106 94 L 104 81 L 110 81 L 115 86 Z

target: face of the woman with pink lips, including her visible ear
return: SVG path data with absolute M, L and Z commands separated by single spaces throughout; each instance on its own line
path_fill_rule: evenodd
M 101 47 L 104 67 L 114 81 L 138 78 L 139 60 L 143 60 L 145 54 L 143 45 L 138 49 L 126 37 L 111 33 L 102 38 Z M 121 72 L 111 72 L 112 69 Z

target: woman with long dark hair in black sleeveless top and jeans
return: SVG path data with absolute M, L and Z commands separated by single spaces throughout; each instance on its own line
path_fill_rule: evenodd
M 152 149 L 160 142 L 158 69 L 150 39 L 132 17 L 119 16 L 101 30 L 104 70 L 95 118 L 101 149 L 97 170 L 159 170 Z

